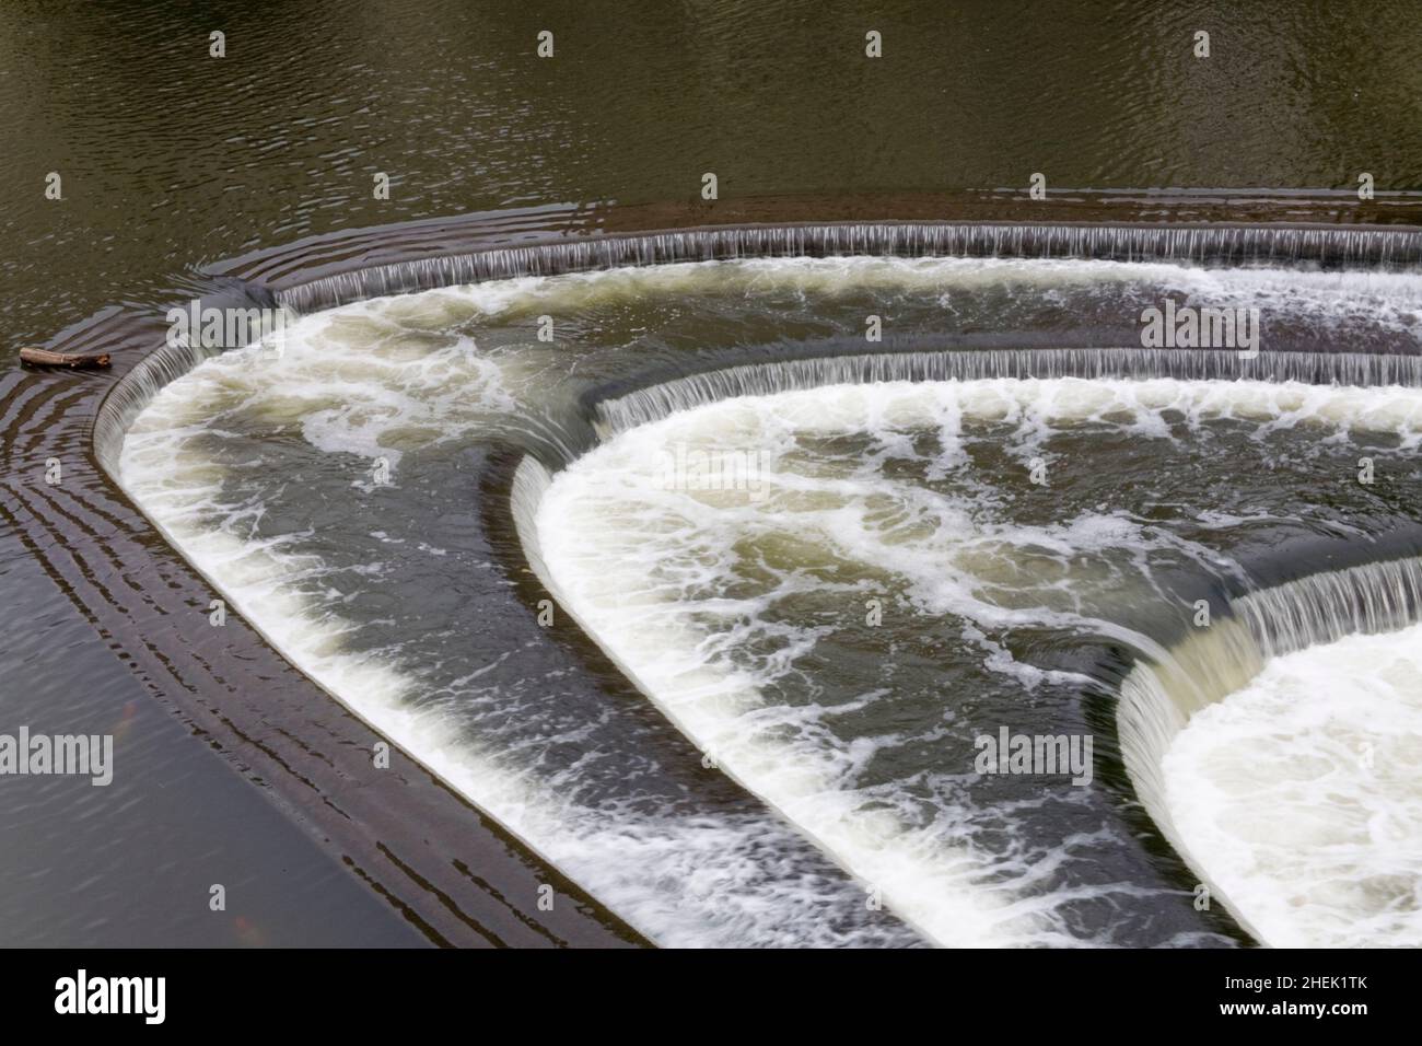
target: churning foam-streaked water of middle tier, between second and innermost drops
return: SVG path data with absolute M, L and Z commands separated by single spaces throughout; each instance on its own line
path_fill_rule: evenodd
M 1283 508 L 1288 482 L 1320 467 L 1314 440 L 1399 408 L 1418 417 L 1422 398 L 1173 380 L 727 400 L 566 470 L 539 546 L 563 602 L 674 722 L 936 941 L 990 939 L 998 908 L 964 911 L 983 895 L 1027 924 L 1022 936 L 1112 939 L 1166 904 L 1138 870 L 1101 879 L 1098 847 L 1128 848 L 1129 824 L 1099 791 L 1031 777 L 1024 794 L 974 776 L 974 741 L 1024 720 L 1034 734 L 1084 731 L 1086 694 L 1111 680 L 1062 665 L 1064 648 L 1159 653 L 1152 636 L 1179 628 L 1200 578 L 1247 576 L 1257 551 L 1239 505 L 1179 478 L 1170 508 L 1160 501 L 1162 477 L 1209 471 L 1199 444 L 1274 471 Z M 1159 445 L 1111 454 L 1126 434 Z M 668 481 L 678 460 L 715 454 L 759 454 L 757 485 Z M 1092 475 L 1108 454 L 1113 471 Z M 1052 500 L 1061 517 L 1042 515 L 1018 463 L 1039 455 L 1072 491 Z M 1206 517 L 1221 509 L 1231 518 Z M 866 626 L 879 603 L 902 620 Z M 1224 626 L 1209 635 L 1227 648 Z M 1253 666 L 1226 667 L 1243 685 Z M 1123 726 L 1128 767 L 1130 737 Z

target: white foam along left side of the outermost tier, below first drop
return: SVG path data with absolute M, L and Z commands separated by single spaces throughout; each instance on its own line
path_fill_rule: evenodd
M 419 700 L 428 694 L 412 666 L 390 652 L 347 646 L 354 625 L 320 585 L 326 564 L 299 551 L 309 535 L 252 537 L 252 521 L 267 505 L 225 501 L 228 468 L 212 458 L 229 413 L 262 418 L 273 440 L 301 438 L 327 454 L 394 464 L 402 450 L 488 434 L 510 408 L 498 369 L 466 339 L 412 347 L 408 329 L 370 323 L 368 312 L 309 317 L 287 330 L 280 359 L 253 346 L 161 390 L 124 443 L 125 491 L 287 660 L 657 942 L 902 944 L 906 935 L 892 926 L 836 926 L 832 912 L 863 905 L 852 881 L 801 881 L 768 862 L 786 834 L 774 818 L 648 815 L 617 801 L 574 800 L 576 773 L 540 777 L 519 753 L 471 740 L 449 707 L 488 696 L 476 679 L 462 680 L 448 704 Z M 343 327 L 357 336 L 340 342 Z M 367 494 L 364 485 L 353 491 L 353 504 Z M 361 511 L 374 508 L 365 502 Z M 385 531 L 373 537 L 397 541 Z

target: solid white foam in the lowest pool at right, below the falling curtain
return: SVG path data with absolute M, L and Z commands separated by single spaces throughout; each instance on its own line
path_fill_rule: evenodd
M 1422 945 L 1422 626 L 1271 660 L 1163 760 L 1186 848 L 1271 945 Z

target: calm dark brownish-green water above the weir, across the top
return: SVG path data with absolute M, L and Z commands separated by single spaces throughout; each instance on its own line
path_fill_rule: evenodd
M 10 339 L 310 233 L 799 192 L 1422 188 L 1409 3 L 7 4 Z M 535 37 L 555 31 L 556 56 Z M 867 28 L 884 57 L 863 57 Z M 1212 57 L 1194 58 L 1197 28 Z M 226 33 L 228 57 L 206 57 Z M 58 171 L 65 201 L 43 198 Z M 371 198 L 391 176 L 390 201 Z

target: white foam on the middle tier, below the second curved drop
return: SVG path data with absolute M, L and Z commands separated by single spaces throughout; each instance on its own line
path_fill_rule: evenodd
M 859 768 L 902 739 L 846 743 L 825 729 L 842 709 L 768 703 L 766 687 L 789 677 L 813 648 L 812 625 L 762 615 L 801 586 L 825 586 L 815 566 L 852 564 L 859 574 L 902 581 L 917 612 L 950 613 L 977 628 L 960 643 L 983 663 L 1031 687 L 1042 673 L 1015 662 L 981 629 L 1079 626 L 1118 635 L 1138 649 L 1149 639 L 1091 616 L 1094 599 L 1121 598 L 1139 576 L 1102 569 L 1103 554 L 1165 546 L 1217 565 L 1217 556 L 1119 514 L 1085 514 L 1022 527 L 995 514 L 991 487 L 946 497 L 889 478 L 882 465 L 912 458 L 907 430 L 936 430 L 931 468 L 961 463 L 964 426 L 1014 427 L 1025 453 L 1062 424 L 1108 423 L 1142 438 L 1169 438 L 1162 420 L 1187 424 L 1239 418 L 1261 427 L 1401 430 L 1422 420 L 1422 391 L 1206 381 L 967 381 L 839 386 L 728 400 L 627 431 L 559 474 L 539 512 L 538 539 L 560 599 L 633 675 L 648 696 L 722 768 L 782 810 L 886 902 L 943 944 L 1062 942 L 1057 904 L 1032 894 L 1051 854 L 991 854 L 975 847 L 977 811 L 961 803 L 951 774 L 931 787 L 943 807 L 924 825 L 902 788 L 860 788 Z M 805 438 L 869 434 L 863 458 L 809 454 Z M 668 482 L 668 448 L 761 454 L 759 491 L 691 491 Z M 752 497 L 754 494 L 754 497 Z M 801 569 L 785 569 L 755 596 L 737 571 L 744 549 L 792 544 Z M 1024 564 L 1042 564 L 1028 571 Z M 755 571 L 769 568 L 752 564 Z M 896 582 L 897 588 L 899 582 Z M 853 585 L 845 599 L 875 595 Z M 748 657 L 752 643 L 772 653 Z M 802 690 L 812 690 L 806 680 Z M 866 697 L 866 700 L 869 700 Z

